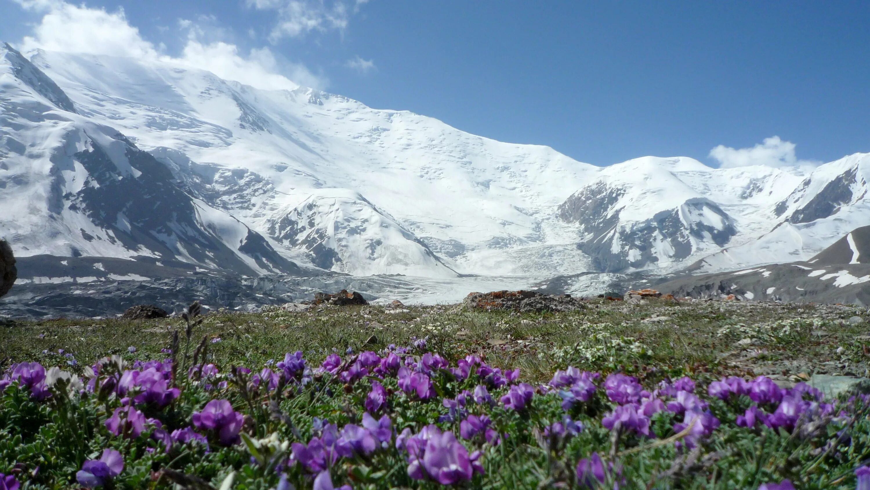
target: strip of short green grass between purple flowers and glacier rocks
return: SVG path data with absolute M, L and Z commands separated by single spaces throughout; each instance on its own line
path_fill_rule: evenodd
M 261 365 L 285 352 L 322 358 L 333 349 L 378 350 L 428 337 L 428 347 L 455 359 L 477 352 L 497 366 L 520 367 L 527 381 L 545 381 L 569 364 L 588 369 L 622 365 L 640 374 L 856 374 L 867 371 L 867 321 L 863 308 L 735 301 L 589 301 L 569 313 L 517 315 L 471 311 L 461 306 L 407 307 L 390 313 L 375 306 L 317 308 L 289 313 L 213 312 L 194 332 L 220 338 L 209 343 L 210 359 Z M 653 315 L 667 321 L 644 321 Z M 0 329 L 3 365 L 50 361 L 58 349 L 82 367 L 107 354 L 161 358 L 171 332 L 184 334 L 184 320 L 81 319 L 20 321 Z M 748 345 L 738 344 L 752 339 Z M 127 354 L 127 348 L 137 354 Z M 840 353 L 837 353 L 837 349 Z M 49 354 L 43 354 L 47 351 Z M 55 359 L 57 361 L 57 359 Z

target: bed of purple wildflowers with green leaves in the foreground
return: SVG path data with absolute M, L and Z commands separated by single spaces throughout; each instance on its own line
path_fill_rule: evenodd
M 10 366 L 0 488 L 681 487 L 713 473 L 730 487 L 870 485 L 862 395 L 577 367 L 532 384 L 425 339 L 258 367 L 179 343 L 161 360 L 104 358 L 84 380 Z

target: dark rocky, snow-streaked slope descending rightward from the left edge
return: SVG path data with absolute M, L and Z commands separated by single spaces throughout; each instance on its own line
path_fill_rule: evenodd
M 0 52 L 0 230 L 17 255 L 150 256 L 238 274 L 298 272 L 262 236 L 187 194 L 93 123 L 17 51 Z

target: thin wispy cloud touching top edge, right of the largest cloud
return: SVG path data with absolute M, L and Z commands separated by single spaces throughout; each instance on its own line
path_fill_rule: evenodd
M 269 40 L 277 43 L 282 37 L 302 37 L 311 31 L 343 31 L 366 1 L 357 1 L 352 6 L 340 0 L 247 0 L 247 3 L 257 10 L 277 10 L 278 23 L 269 34 Z

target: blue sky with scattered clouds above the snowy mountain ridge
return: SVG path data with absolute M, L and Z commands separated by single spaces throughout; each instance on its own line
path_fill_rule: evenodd
M 371 107 L 599 165 L 646 155 L 800 164 L 870 151 L 868 2 L 0 0 L 0 39 L 137 43 L 67 43 L 45 21 L 64 9 L 105 10 L 161 55 L 223 43 L 245 63 Z M 63 36 L 79 21 L 92 31 L 87 16 L 70 18 Z

